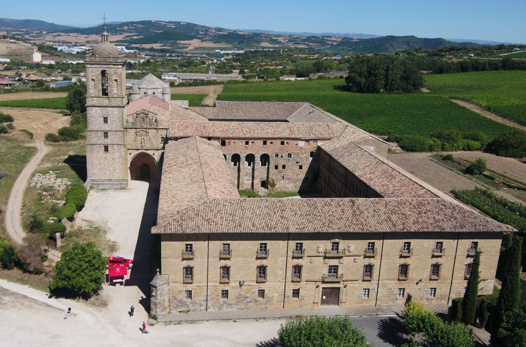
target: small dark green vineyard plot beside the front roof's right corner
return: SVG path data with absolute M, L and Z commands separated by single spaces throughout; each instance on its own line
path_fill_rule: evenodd
M 451 193 L 464 204 L 477 208 L 491 218 L 511 225 L 521 232 L 526 231 L 526 207 L 523 205 L 513 203 L 489 190 L 478 187 L 474 191 L 452 190 Z

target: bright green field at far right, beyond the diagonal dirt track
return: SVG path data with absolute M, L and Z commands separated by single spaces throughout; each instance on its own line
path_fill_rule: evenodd
M 433 93 L 476 102 L 526 125 L 526 71 L 444 73 L 424 79 Z

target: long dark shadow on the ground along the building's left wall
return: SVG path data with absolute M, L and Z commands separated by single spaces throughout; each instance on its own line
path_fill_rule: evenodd
M 157 222 L 157 206 L 159 202 L 158 190 L 153 184 L 148 186 L 146 202 L 143 208 L 143 219 L 141 219 L 139 234 L 134 253 L 134 267 L 128 280 L 128 286 L 137 286 L 143 293 L 139 304 L 150 311 L 150 282 L 160 266 L 160 240 L 157 235 L 151 235 L 150 229 Z

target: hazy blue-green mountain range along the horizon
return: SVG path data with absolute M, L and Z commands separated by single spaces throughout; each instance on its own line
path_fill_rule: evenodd
M 271 30 L 233 30 L 209 27 L 189 22 L 163 20 L 140 20 L 134 22 L 109 22 L 107 30 L 112 35 L 123 35 L 118 42 L 125 45 L 163 44 L 172 49 L 182 49 L 180 41 L 198 39 L 217 44 L 217 47 L 235 48 L 301 48 L 317 49 L 333 54 L 383 53 L 404 49 L 443 47 L 478 47 L 482 44 L 499 44 L 494 41 L 443 38 L 419 38 L 416 36 L 379 36 L 357 33 L 294 33 Z M 99 35 L 103 25 L 79 28 L 47 23 L 32 19 L 0 18 L 0 28 L 25 31 L 51 31 L 57 33 L 78 33 Z M 31 39 L 28 35 L 28 39 Z M 64 41 L 64 39 L 62 39 Z M 476 42 L 474 42 L 476 41 Z M 182 45 L 182 46 L 181 46 Z M 222 46 L 221 46 L 222 45 Z

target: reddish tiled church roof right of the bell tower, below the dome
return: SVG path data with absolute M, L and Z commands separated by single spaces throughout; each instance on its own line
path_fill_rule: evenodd
M 145 97 L 128 104 L 127 115 L 146 110 L 157 114 L 157 117 L 166 121 L 207 121 L 202 115 L 172 102 L 165 102 L 155 97 Z

